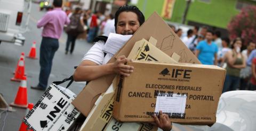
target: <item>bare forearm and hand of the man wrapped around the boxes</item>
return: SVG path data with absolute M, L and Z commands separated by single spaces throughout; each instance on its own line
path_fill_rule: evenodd
M 83 60 L 74 73 L 75 81 L 91 81 L 108 74 L 121 74 L 129 76 L 133 72 L 133 66 L 125 65 L 130 62 L 125 56 L 117 58 L 115 63 L 98 65 L 90 60 Z

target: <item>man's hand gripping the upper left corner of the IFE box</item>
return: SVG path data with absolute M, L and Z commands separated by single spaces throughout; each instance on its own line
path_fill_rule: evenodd
M 112 68 L 113 71 L 117 74 L 121 74 L 123 76 L 130 76 L 133 72 L 133 66 L 125 65 L 127 62 L 131 62 L 131 59 L 127 59 L 125 56 L 120 56 L 117 58 L 116 62 L 113 63 Z

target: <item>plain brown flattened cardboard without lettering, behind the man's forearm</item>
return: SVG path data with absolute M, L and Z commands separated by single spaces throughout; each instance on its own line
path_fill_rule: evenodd
M 169 56 L 172 56 L 173 53 L 178 54 L 180 56 L 179 62 L 201 64 L 196 56 L 157 13 L 153 13 L 148 20 L 141 25 L 133 34 L 132 38 L 109 60 L 109 63 L 115 62 L 118 56 L 125 55 L 127 57 L 136 41 L 143 38 L 149 39 L 151 36 L 157 40 L 156 46 L 163 50 L 164 53 Z M 115 76 L 115 74 L 106 75 L 91 81 L 86 85 L 86 88 L 77 95 L 72 104 L 81 111 L 83 115 L 89 115 L 95 101 L 99 98 L 101 93 L 106 92 Z

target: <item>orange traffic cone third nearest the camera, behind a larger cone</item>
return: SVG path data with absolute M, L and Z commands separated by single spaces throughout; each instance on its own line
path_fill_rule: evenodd
M 20 82 L 22 77 L 25 75 L 25 62 L 24 58 L 20 58 L 19 65 L 15 70 L 14 77 L 11 78 L 11 81 L 17 81 Z

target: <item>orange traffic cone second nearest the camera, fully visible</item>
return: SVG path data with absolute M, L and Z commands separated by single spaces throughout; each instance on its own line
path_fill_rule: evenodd
M 28 95 L 27 95 L 27 77 L 23 76 L 16 98 L 14 102 L 10 104 L 14 107 L 27 108 L 28 107 Z

